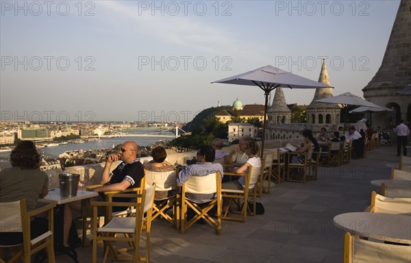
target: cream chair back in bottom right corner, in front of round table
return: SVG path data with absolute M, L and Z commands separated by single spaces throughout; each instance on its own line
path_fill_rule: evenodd
M 384 244 L 344 235 L 344 263 L 356 262 L 410 262 L 411 247 Z

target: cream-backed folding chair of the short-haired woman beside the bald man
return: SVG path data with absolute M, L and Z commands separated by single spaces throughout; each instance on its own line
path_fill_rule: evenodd
M 161 198 L 154 197 L 153 220 L 158 216 L 169 221 L 171 225 L 179 229 L 179 195 L 177 195 L 178 171 L 153 172 L 145 170 L 146 187 L 155 184 L 155 192 L 168 192 L 169 195 Z M 173 191 L 173 192 L 171 192 Z M 171 195 L 172 194 L 172 195 Z M 167 210 L 173 208 L 173 215 L 167 214 Z

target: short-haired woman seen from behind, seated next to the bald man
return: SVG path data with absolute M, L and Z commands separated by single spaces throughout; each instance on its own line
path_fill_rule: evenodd
M 166 153 L 166 149 L 164 149 L 163 147 L 155 147 L 151 151 L 151 157 L 153 158 L 152 161 L 146 162 L 145 164 L 142 165 L 142 167 L 145 168 L 145 170 L 151 171 L 151 172 L 174 171 L 175 168 L 173 164 L 170 164 L 169 162 L 166 161 L 167 153 Z M 155 200 L 165 199 L 166 197 L 168 197 L 168 195 L 169 195 L 169 192 L 167 191 L 155 191 L 154 199 Z

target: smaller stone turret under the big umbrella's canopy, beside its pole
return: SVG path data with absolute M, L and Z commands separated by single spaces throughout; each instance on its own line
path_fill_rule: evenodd
M 291 110 L 288 109 L 282 88 L 275 89 L 273 104 L 267 115 L 270 124 L 291 123 Z

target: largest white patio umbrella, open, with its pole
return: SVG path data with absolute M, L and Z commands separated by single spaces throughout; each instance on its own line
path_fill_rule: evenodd
M 262 123 L 262 142 L 261 154 L 264 155 L 264 140 L 266 128 L 266 114 L 269 104 L 270 92 L 275 88 L 333 88 L 325 84 L 314 82 L 314 80 L 306 79 L 299 75 L 292 74 L 288 71 L 275 68 L 273 66 L 263 66 L 256 68 L 253 71 L 227 77 L 225 79 L 216 80 L 212 83 L 236 84 L 247 86 L 258 86 L 264 91 L 264 121 Z

